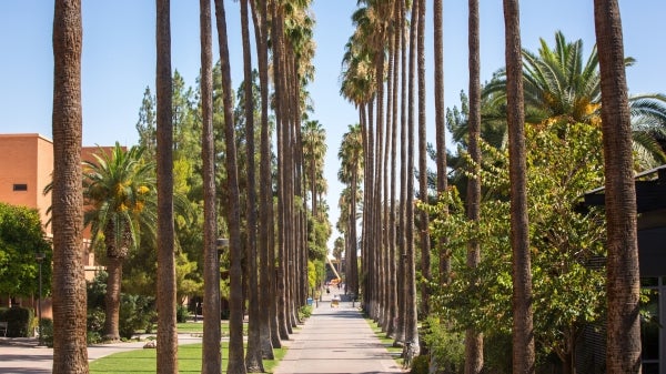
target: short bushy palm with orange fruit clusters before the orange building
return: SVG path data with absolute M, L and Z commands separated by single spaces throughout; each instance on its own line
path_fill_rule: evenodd
M 109 274 L 104 331 L 107 340 L 117 341 L 123 262 L 141 242 L 141 228 L 154 236 L 154 164 L 143 162 L 142 148 L 125 152 L 118 142 L 110 152 L 100 149 L 94 158 L 83 163 L 83 196 L 89 206 L 84 224 L 91 225 L 93 247 L 100 237 L 104 240 Z

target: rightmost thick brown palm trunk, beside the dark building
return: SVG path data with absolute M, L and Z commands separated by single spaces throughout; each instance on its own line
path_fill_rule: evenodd
M 602 74 L 605 205 L 608 259 L 606 370 L 640 373 L 639 272 L 630 113 L 619 7 L 594 1 Z

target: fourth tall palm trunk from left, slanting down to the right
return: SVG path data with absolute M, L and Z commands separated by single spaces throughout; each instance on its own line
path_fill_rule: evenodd
M 224 143 L 226 160 L 228 224 L 230 245 L 230 319 L 229 319 L 229 373 L 245 373 L 243 353 L 243 281 L 241 261 L 241 213 L 239 172 L 236 162 L 233 105 L 231 102 L 231 67 L 229 61 L 229 39 L 226 37 L 226 14 L 224 1 L 215 0 L 215 20 L 218 43 L 220 47 L 220 65 L 222 69 L 222 101 L 224 107 Z

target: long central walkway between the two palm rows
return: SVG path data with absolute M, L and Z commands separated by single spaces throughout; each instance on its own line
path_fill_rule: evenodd
M 404 373 L 352 303 L 331 306 L 324 296 L 305 324 L 284 342 L 286 355 L 274 374 L 296 373 Z M 344 296 L 343 296 L 343 300 Z

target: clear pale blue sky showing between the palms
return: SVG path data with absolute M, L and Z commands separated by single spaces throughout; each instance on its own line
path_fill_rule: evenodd
M 427 138 L 434 142 L 432 1 L 427 0 L 426 74 Z M 502 1 L 481 0 L 481 79 L 504 67 Z M 238 1 L 225 1 L 232 87 L 241 82 L 241 36 Z M 444 0 L 444 100 L 460 104 L 467 91 L 467 2 Z M 619 0 L 625 54 L 636 59 L 627 69 L 629 93 L 666 92 L 663 22 L 666 1 Z M 582 39 L 587 55 L 595 44 L 593 0 L 524 0 L 521 7 L 523 48 L 536 52 L 539 38 L 554 44 L 556 31 L 568 41 Z M 337 150 L 347 125 L 356 123 L 353 105 L 340 97 L 341 59 L 354 28 L 356 0 L 313 0 L 317 44 L 315 80 L 309 87 L 314 113 L 326 129 L 324 176 L 331 222 L 337 221 L 342 185 Z M 82 0 L 83 145 L 138 143 L 135 129 L 147 87 L 155 87 L 155 1 Z M 53 1 L 0 0 L 0 133 L 40 133 L 51 138 Z M 172 69 L 194 87 L 200 71 L 199 1 L 171 1 Z M 215 31 L 213 31 L 215 34 Z M 216 38 L 213 41 L 218 60 Z M 0 156 L 0 162 L 1 156 Z M 336 234 L 334 234 L 336 235 Z M 333 237 L 335 239 L 335 236 Z M 332 239 L 332 240 L 333 240 Z

